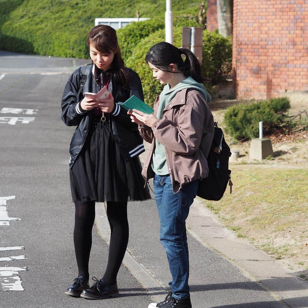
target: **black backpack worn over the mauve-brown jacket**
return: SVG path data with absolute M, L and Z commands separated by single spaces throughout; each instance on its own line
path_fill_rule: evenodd
M 197 196 L 206 200 L 218 201 L 222 198 L 229 182 L 232 193 L 231 170 L 229 170 L 230 148 L 225 141 L 224 132 L 215 122 L 214 137 L 209 151 L 209 175 L 199 182 Z

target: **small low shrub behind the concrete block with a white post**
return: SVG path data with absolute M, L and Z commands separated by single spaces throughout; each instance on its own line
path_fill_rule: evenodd
M 256 138 L 260 121 L 263 122 L 263 131 L 271 132 L 285 120 L 289 109 L 287 97 L 231 106 L 225 112 L 225 131 L 237 140 Z

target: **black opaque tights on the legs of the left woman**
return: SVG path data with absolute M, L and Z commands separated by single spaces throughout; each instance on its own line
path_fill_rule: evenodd
M 111 237 L 108 263 L 103 280 L 107 285 L 116 277 L 128 244 L 127 202 L 107 202 L 107 218 Z M 89 257 L 92 245 L 92 227 L 95 219 L 95 201 L 75 201 L 74 246 L 78 276 L 89 277 Z

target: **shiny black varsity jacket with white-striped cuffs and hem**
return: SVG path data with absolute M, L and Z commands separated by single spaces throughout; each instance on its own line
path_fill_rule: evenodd
M 132 95 L 136 95 L 141 100 L 144 100 L 144 96 L 138 74 L 127 67 L 125 67 L 125 70 L 129 76 L 128 87 L 121 87 L 112 78 L 109 84 L 109 92 L 112 93 L 115 102 L 115 107 L 110 113 L 109 122 L 111 134 L 119 146 L 123 157 L 128 161 L 139 156 L 145 149 L 143 139 L 138 131 L 138 125 L 131 121 L 127 110 L 117 104 L 117 102 L 125 102 Z M 79 67 L 68 79 L 61 102 L 61 119 L 67 126 L 77 126 L 70 145 L 70 168 L 72 168 L 83 148 L 91 124 L 91 115 L 88 111 L 81 109 L 80 102 L 82 99 L 79 100 L 77 98 L 81 78 L 81 67 Z M 97 93 L 98 91 L 99 87 L 95 83 L 93 65 L 91 65 L 91 73 L 87 76 L 82 97 L 84 97 L 84 92 Z

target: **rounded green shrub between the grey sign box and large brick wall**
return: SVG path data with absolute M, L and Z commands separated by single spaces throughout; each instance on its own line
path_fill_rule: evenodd
M 221 83 L 232 69 L 232 43 L 216 31 L 203 31 L 202 73 L 212 84 Z

